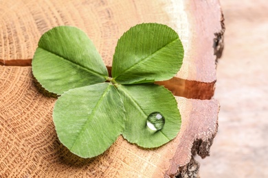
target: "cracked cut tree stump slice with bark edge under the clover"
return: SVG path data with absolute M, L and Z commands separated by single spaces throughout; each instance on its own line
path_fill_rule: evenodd
M 0 1 L 0 177 L 198 177 L 195 154 L 209 155 L 218 127 L 212 99 L 223 49 L 219 1 Z M 107 68 L 118 38 L 138 23 L 163 23 L 179 34 L 185 57 L 166 86 L 181 112 L 178 136 L 142 149 L 122 136 L 98 157 L 82 159 L 56 136 L 56 99 L 34 86 L 31 59 L 45 31 L 72 25 L 85 31 Z

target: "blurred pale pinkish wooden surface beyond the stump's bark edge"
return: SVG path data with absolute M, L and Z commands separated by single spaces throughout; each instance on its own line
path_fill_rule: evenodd
M 221 0 L 225 49 L 214 98 L 219 131 L 201 177 L 268 177 L 268 1 Z

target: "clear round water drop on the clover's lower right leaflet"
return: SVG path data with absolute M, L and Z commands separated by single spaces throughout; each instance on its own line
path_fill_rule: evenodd
M 147 127 L 153 131 L 160 130 L 164 127 L 165 118 L 160 112 L 152 112 L 147 118 Z

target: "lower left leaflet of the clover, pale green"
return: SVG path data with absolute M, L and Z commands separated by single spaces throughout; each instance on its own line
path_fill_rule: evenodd
M 80 157 L 93 157 L 122 133 L 124 105 L 112 84 L 83 86 L 58 98 L 53 118 L 60 142 Z

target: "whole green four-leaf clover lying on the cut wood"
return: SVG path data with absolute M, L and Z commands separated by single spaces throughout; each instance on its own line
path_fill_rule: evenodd
M 143 23 L 118 40 L 109 77 L 87 35 L 60 26 L 39 40 L 32 71 L 46 90 L 61 95 L 53 111 L 60 142 L 80 157 L 95 157 L 120 134 L 144 148 L 177 136 L 177 101 L 153 82 L 173 77 L 182 60 L 183 47 L 174 30 Z

